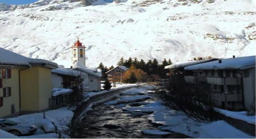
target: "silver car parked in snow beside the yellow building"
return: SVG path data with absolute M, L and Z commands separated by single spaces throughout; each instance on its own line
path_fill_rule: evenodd
M 21 136 L 22 134 L 33 134 L 37 131 L 37 127 L 35 125 L 14 122 L 8 119 L 0 119 L 0 129 L 16 136 Z

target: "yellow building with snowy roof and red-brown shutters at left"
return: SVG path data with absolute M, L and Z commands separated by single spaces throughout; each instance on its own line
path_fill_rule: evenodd
M 56 63 L 0 48 L 0 117 L 49 110 L 55 68 Z

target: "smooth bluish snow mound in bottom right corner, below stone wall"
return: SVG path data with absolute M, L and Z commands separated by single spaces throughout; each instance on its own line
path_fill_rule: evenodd
M 255 138 L 220 120 L 201 126 L 201 134 L 198 138 Z

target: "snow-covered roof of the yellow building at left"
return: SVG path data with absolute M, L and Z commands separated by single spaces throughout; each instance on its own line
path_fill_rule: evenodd
M 48 64 L 57 68 L 57 63 L 44 60 L 44 59 L 35 59 L 35 58 L 27 58 L 20 54 L 14 53 L 12 51 L 8 51 L 6 49 L 0 48 L 0 64 L 5 65 L 22 65 L 22 66 L 33 66 L 36 64 Z

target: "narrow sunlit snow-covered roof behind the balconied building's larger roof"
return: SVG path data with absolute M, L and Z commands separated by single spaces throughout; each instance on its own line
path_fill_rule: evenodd
M 190 65 L 194 65 L 194 64 L 214 61 L 214 60 L 217 60 L 217 59 L 216 58 L 212 58 L 212 59 L 206 59 L 206 60 L 189 61 L 189 62 L 184 62 L 184 63 L 179 63 L 179 64 L 171 64 L 171 65 L 165 66 L 164 68 L 165 69 L 175 69 L 175 68 L 186 67 L 186 66 L 190 66 Z

